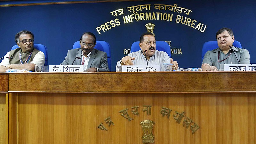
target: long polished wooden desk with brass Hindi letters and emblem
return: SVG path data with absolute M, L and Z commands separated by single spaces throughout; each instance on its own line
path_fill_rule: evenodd
M 10 73 L 8 92 L 9 143 L 256 143 L 255 72 Z

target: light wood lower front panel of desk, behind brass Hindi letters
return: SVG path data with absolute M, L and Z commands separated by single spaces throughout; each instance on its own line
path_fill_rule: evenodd
M 152 105 L 151 115 L 143 105 Z M 255 105 L 255 93 L 19 93 L 18 142 L 142 144 L 140 122 L 150 119 L 155 143 L 254 144 Z M 139 116 L 132 106 L 139 106 Z M 160 114 L 162 106 L 172 109 L 169 119 Z M 119 113 L 125 108 L 130 122 Z M 186 112 L 180 124 L 175 111 Z M 105 123 L 108 116 L 114 126 Z M 200 126 L 194 134 L 183 126 L 187 117 Z M 96 128 L 101 122 L 108 131 Z

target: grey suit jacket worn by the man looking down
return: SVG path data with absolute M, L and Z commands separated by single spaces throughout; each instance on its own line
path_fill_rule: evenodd
M 81 54 L 82 54 L 81 48 L 68 50 L 68 54 L 65 57 L 65 60 L 62 63 L 60 63 L 60 65 L 72 65 L 72 62 L 75 60 L 75 58 L 81 57 Z M 76 59 L 73 65 L 81 65 L 81 60 Z M 88 68 L 97 67 L 99 71 L 109 71 L 107 53 L 93 48 L 87 67 Z

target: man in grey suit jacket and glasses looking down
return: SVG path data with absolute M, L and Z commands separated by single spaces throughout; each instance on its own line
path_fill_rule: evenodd
M 94 49 L 95 45 L 95 35 L 84 32 L 80 39 L 81 48 L 68 50 L 60 65 L 87 65 L 88 72 L 109 71 L 107 53 Z

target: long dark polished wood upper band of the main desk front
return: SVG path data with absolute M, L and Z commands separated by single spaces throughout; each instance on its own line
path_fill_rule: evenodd
M 84 77 L 84 79 L 83 79 Z M 87 84 L 84 83 L 86 80 Z M 245 81 L 250 80 L 250 82 Z M 255 72 L 100 72 L 9 74 L 9 91 L 34 92 L 247 92 Z

